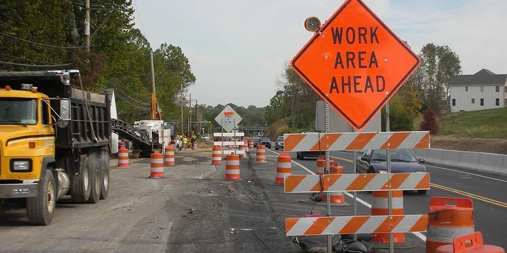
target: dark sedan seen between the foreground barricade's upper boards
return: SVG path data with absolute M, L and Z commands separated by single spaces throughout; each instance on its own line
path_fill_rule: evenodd
M 359 173 L 387 173 L 386 150 L 366 150 L 355 162 Z M 411 150 L 391 150 L 391 173 L 426 172 L 426 167 L 420 164 L 421 162 L 424 162 L 424 160 L 417 159 Z M 426 190 L 417 190 L 417 192 L 424 194 Z

